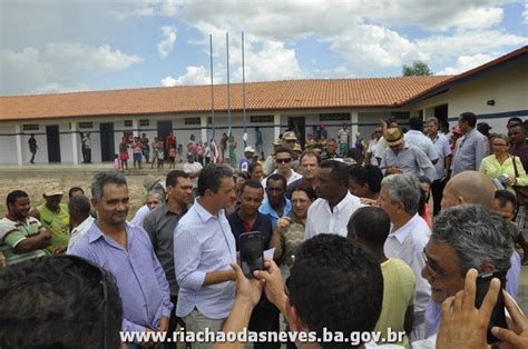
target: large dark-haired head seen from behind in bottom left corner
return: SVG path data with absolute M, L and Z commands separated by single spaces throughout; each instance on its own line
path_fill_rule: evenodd
M 0 268 L 6 348 L 118 348 L 123 306 L 114 278 L 76 256 Z

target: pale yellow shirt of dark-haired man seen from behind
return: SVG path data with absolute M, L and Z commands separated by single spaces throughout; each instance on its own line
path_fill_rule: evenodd
M 417 282 L 412 269 L 398 258 L 389 258 L 381 263 L 383 273 L 383 303 L 380 318 L 374 331 L 382 333 L 381 338 L 388 338 L 388 329 L 404 331 L 403 322 L 407 308 L 414 305 Z M 382 345 L 383 342 L 379 342 Z M 409 339 L 407 336 L 402 342 L 391 343 L 407 347 Z

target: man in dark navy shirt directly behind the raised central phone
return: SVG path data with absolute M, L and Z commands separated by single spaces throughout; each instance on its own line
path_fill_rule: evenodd
M 241 188 L 241 206 L 227 217 L 235 236 L 236 250 L 239 250 L 238 237 L 248 231 L 262 233 L 262 249 L 266 250 L 273 233 L 272 221 L 267 215 L 258 212 L 264 199 L 264 188 L 256 180 L 247 180 Z M 251 331 L 278 331 L 278 309 L 262 295 L 250 320 Z M 254 343 L 254 348 L 280 348 L 280 343 Z

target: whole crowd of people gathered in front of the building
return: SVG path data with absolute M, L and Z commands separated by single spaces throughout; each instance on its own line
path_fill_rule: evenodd
M 482 134 L 478 128 L 489 126 L 466 112 L 452 134 L 436 118 L 411 118 L 409 127 L 383 121 L 370 142 L 350 149 L 346 126 L 338 140 L 319 128 L 304 150 L 287 131 L 264 163 L 262 148 L 246 147 L 235 170 L 187 151 L 183 170 L 145 177 L 147 198 L 130 221 L 120 171 L 96 174 L 90 199 L 71 188 L 68 205 L 56 185 L 36 208 L 27 192 L 11 191 L 0 220 L 0 346 L 117 348 L 119 331 L 173 333 L 178 326 L 268 333 L 280 331 L 282 315 L 291 331 L 317 338 L 381 333 L 356 342 L 290 338 L 289 348 L 487 348 L 503 292 L 511 321 L 491 333 L 527 348 L 516 299 L 528 258 L 528 126 L 512 118 L 507 134 Z M 252 231 L 270 258 L 247 278 L 237 259 L 239 237 Z M 486 272 L 501 283 L 493 280 L 476 308 Z M 391 331 L 401 336 L 389 345 Z

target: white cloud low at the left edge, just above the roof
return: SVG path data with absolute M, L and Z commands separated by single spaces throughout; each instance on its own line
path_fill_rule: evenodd
M 107 44 L 48 43 L 43 50 L 2 50 L 0 61 L 0 94 L 20 94 L 86 90 L 88 84 L 79 81 L 82 74 L 121 71 L 143 59 Z

